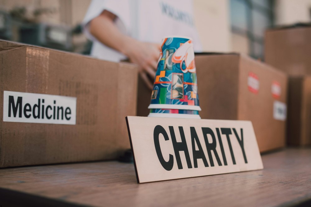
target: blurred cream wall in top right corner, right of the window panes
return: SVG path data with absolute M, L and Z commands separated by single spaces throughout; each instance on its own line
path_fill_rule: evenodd
M 311 21 L 311 0 L 276 0 L 276 25 Z

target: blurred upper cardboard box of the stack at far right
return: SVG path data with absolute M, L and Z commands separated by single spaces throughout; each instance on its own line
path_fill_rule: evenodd
M 311 25 L 270 29 L 265 34 L 265 61 L 289 75 L 311 75 Z

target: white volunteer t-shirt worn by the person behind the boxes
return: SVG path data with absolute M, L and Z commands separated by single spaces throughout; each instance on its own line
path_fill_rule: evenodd
M 188 36 L 193 39 L 194 51 L 202 52 L 191 0 L 92 0 L 82 22 L 85 34 L 93 41 L 91 56 L 109 61 L 126 59 L 89 33 L 88 23 L 104 10 L 116 15 L 118 29 L 132 38 L 160 44 L 165 36 Z

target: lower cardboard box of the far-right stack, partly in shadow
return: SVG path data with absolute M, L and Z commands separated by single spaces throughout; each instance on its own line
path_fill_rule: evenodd
M 289 78 L 287 143 L 311 144 L 311 76 Z

